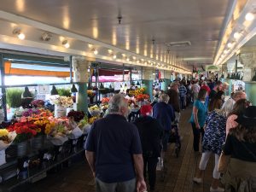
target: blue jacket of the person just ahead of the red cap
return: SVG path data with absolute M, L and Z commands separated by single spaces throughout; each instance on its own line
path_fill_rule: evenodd
M 156 103 L 153 107 L 153 117 L 158 119 L 165 131 L 170 131 L 172 128 L 172 121 L 175 120 L 175 113 L 172 105 L 166 104 L 166 102 Z

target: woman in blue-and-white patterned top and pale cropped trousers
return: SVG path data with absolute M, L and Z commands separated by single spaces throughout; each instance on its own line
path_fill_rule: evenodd
M 225 129 L 226 129 L 226 113 L 224 109 L 216 109 L 207 115 L 206 119 L 206 132 L 202 142 L 202 155 L 193 181 L 195 183 L 202 183 L 203 173 L 207 168 L 208 160 L 214 154 L 215 166 L 212 172 L 212 185 L 211 192 L 223 192 L 224 189 L 218 187 L 218 180 L 220 173 L 218 172 L 218 159 L 222 151 L 222 146 L 225 142 Z

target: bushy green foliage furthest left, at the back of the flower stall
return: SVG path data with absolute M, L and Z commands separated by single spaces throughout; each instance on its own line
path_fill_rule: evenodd
M 6 91 L 7 104 L 10 108 L 20 108 L 22 90 L 11 88 Z

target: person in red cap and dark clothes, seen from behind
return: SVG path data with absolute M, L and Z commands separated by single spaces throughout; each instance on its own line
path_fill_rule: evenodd
M 144 105 L 140 109 L 142 117 L 134 122 L 137 125 L 143 146 L 144 177 L 148 170 L 148 183 L 150 191 L 154 191 L 156 179 L 156 166 L 160 157 L 160 136 L 163 131 L 157 119 L 152 118 L 152 107 Z

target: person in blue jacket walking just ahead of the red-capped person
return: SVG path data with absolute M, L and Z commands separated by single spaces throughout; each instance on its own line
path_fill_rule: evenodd
M 170 131 L 172 129 L 172 122 L 175 120 L 175 113 L 172 105 L 168 104 L 169 96 L 162 94 L 160 96 L 160 102 L 156 103 L 153 107 L 153 117 L 158 119 L 160 125 L 163 127 L 163 137 L 161 139 L 162 151 L 161 157 L 165 164 L 165 154 L 167 151 L 167 144 L 170 137 Z

